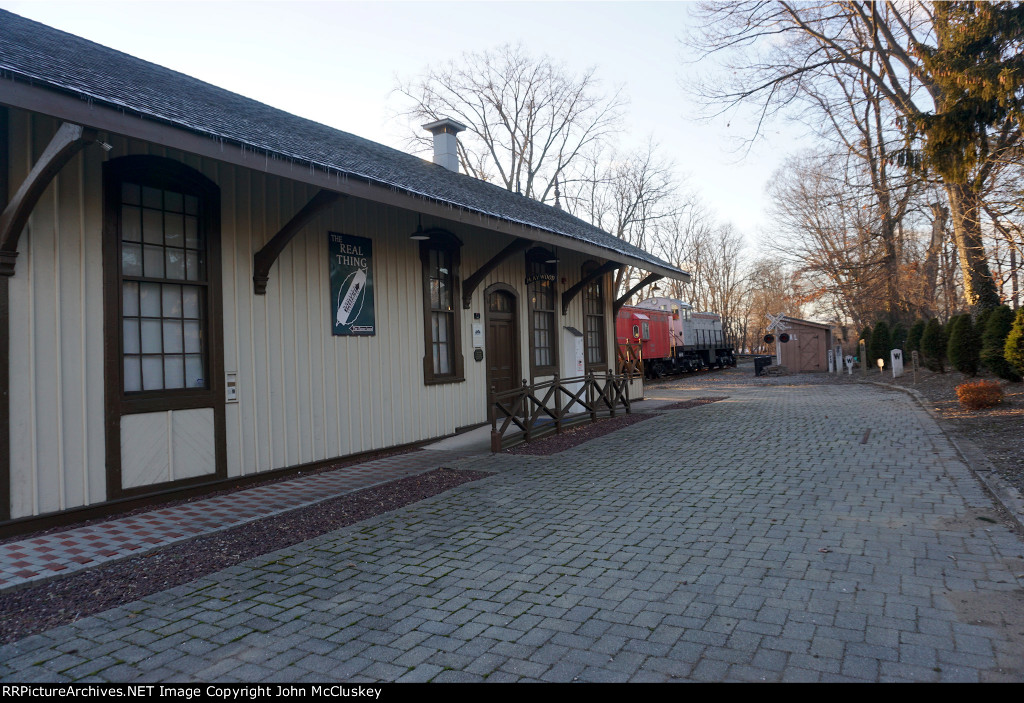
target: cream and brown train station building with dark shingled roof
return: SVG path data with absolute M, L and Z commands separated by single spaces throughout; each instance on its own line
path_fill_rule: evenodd
M 0 529 L 440 438 L 614 366 L 568 213 L 0 11 Z

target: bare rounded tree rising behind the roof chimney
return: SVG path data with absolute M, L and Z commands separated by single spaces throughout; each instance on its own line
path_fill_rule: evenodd
M 541 202 L 554 200 L 556 179 L 571 180 L 581 156 L 618 126 L 625 100 L 606 91 L 591 69 L 573 75 L 548 56 L 518 45 L 464 53 L 400 83 L 416 124 L 411 140 L 427 150 L 418 127 L 452 118 L 468 129 L 459 158 L 466 173 Z

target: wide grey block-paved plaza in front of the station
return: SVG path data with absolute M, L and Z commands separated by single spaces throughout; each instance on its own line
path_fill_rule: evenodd
M 1024 541 L 911 398 L 723 394 L 464 459 L 497 473 L 2 647 L 0 679 L 1024 680 Z

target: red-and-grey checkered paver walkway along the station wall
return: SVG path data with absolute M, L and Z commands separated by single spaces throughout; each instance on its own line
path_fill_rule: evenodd
M 0 590 L 436 469 L 459 451 L 412 451 L 0 544 Z

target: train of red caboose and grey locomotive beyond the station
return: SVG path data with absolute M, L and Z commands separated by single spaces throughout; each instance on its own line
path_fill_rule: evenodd
M 625 354 L 639 350 L 644 376 L 657 379 L 700 368 L 736 365 L 722 316 L 696 312 L 675 298 L 648 298 L 624 305 L 615 317 L 615 338 Z

